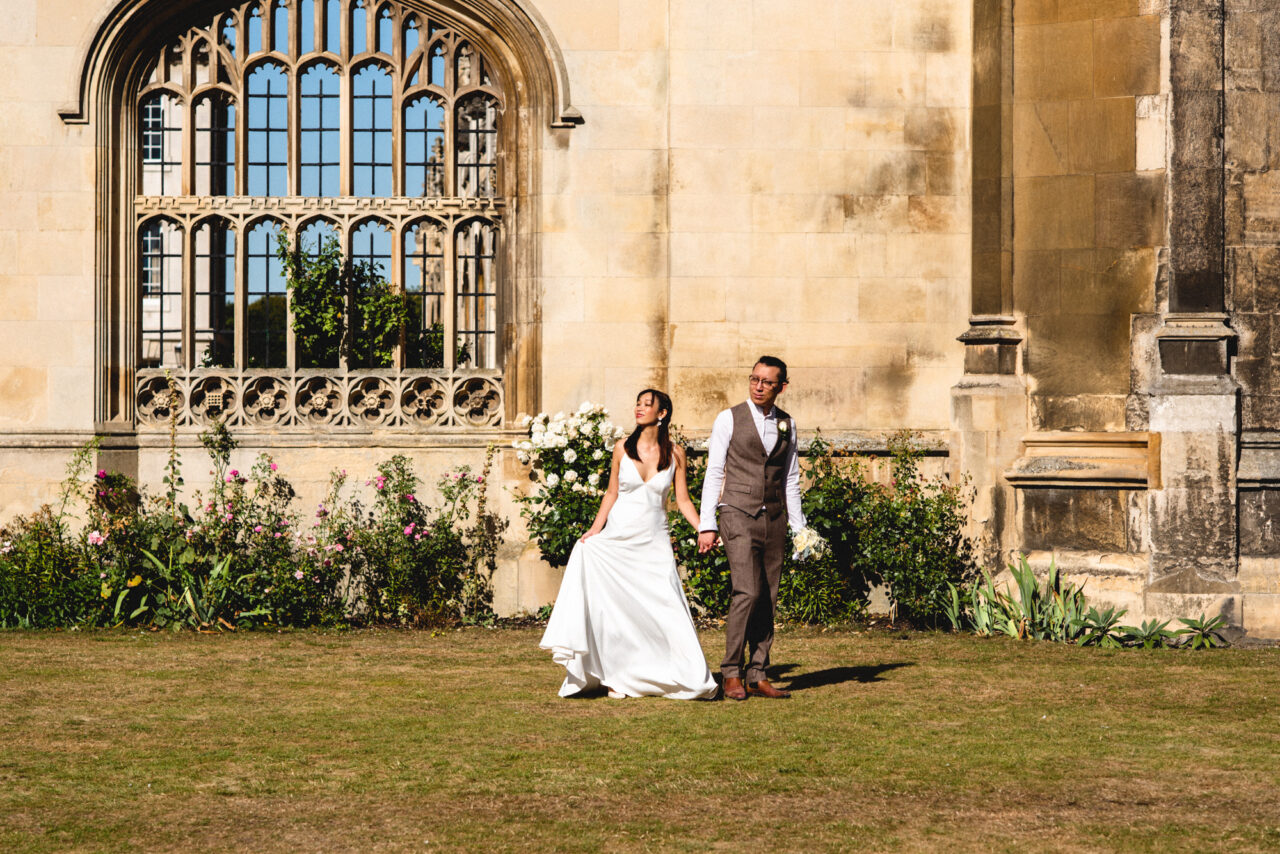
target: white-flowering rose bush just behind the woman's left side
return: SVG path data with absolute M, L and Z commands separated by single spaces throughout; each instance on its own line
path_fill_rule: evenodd
M 532 488 L 516 501 L 543 558 L 563 566 L 573 543 L 595 519 L 609 487 L 613 444 L 626 430 L 609 421 L 608 410 L 590 402 L 568 415 L 526 415 L 520 425 L 527 435 L 512 447 L 529 466 Z

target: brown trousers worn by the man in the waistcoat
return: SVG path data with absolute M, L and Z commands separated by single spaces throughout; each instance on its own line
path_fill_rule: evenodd
M 742 679 L 742 649 L 746 648 L 746 681 L 767 679 L 773 645 L 773 612 L 778 607 L 778 579 L 787 543 L 787 515 L 772 504 L 755 516 L 723 506 L 719 508 L 721 539 L 733 593 L 724 621 L 726 679 Z

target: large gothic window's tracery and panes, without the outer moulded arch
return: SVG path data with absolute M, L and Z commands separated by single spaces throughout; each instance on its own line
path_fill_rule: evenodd
M 500 421 L 504 92 L 483 45 L 394 3 L 255 0 L 157 51 L 133 106 L 141 424 Z M 403 294 L 389 367 L 307 364 L 280 236 L 337 241 Z

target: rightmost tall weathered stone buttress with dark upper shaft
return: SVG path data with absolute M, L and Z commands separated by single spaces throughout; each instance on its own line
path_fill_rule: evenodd
M 1224 278 L 1220 1 L 1169 8 L 1171 132 L 1167 293 L 1152 344 L 1148 429 L 1161 437 L 1162 488 L 1149 495 L 1148 616 L 1221 613 L 1239 624 L 1235 506 L 1239 385 L 1230 375 Z M 1144 350 L 1144 353 L 1142 352 Z M 1135 388 L 1140 393 L 1142 389 Z

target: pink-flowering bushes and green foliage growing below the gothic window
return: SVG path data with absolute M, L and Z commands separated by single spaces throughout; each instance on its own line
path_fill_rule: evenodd
M 492 621 L 489 577 L 506 522 L 488 506 L 485 467 L 462 467 L 420 498 L 406 457 L 378 467 L 366 507 L 334 472 L 310 525 L 293 487 L 260 456 L 230 467 L 236 440 L 221 424 L 201 437 L 212 487 L 188 506 L 170 448 L 165 493 L 146 495 L 123 475 L 90 480 L 79 533 L 67 507 L 93 448 L 68 469 L 55 511 L 0 530 L 0 626 L 138 625 L 221 630 L 248 626 L 422 625 Z

